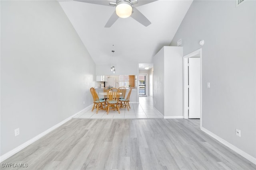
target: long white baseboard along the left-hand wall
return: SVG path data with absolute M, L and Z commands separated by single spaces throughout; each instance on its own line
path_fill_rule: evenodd
M 77 113 L 75 113 L 74 115 L 64 119 L 63 121 L 61 121 L 60 123 L 54 125 L 53 127 L 47 129 L 46 131 L 40 133 L 39 135 L 37 135 L 36 137 L 33 137 L 32 139 L 26 141 L 25 143 L 23 143 L 22 145 L 10 150 L 9 152 L 7 152 L 6 154 L 3 154 L 2 156 L 0 156 L 0 162 L 6 160 L 7 158 L 11 157 L 12 155 L 16 154 L 17 152 L 19 152 L 20 150 L 24 149 L 25 147 L 27 147 L 28 145 L 34 143 L 35 141 L 37 141 L 38 139 L 40 139 L 41 137 L 43 137 L 44 135 L 47 135 L 48 133 L 50 133 L 51 131 L 53 131 L 54 129 L 60 127 L 61 125 L 63 125 L 64 123 L 66 123 L 67 121 L 69 121 L 70 119 L 72 119 L 72 117 L 78 115 L 79 113 L 81 113 L 82 111 L 90 108 L 92 105 L 78 111 Z

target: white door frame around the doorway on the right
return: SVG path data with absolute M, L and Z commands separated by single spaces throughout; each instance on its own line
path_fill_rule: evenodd
M 200 128 L 202 127 L 202 49 L 198 49 L 183 57 L 183 117 L 188 119 L 188 58 L 200 58 Z

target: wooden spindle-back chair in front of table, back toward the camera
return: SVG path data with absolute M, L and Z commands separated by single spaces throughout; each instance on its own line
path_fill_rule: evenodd
M 117 88 L 110 88 L 107 92 L 107 115 L 109 110 L 118 110 L 118 113 L 120 114 L 119 110 L 119 95 L 120 92 Z M 111 109 L 110 109 L 111 107 Z

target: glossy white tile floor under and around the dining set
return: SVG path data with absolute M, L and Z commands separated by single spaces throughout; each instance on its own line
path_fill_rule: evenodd
M 99 110 L 96 114 L 96 109 L 91 109 L 79 113 L 74 118 L 89 118 L 89 119 L 147 119 L 147 118 L 164 118 L 160 112 L 153 107 L 153 99 L 150 97 L 140 97 L 140 103 L 130 103 L 131 109 L 129 111 L 125 108 L 118 111 L 110 110 L 108 112 Z

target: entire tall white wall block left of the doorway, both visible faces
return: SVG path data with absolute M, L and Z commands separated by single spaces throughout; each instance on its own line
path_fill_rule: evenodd
M 164 118 L 183 118 L 183 47 L 164 46 L 153 63 L 154 107 Z

